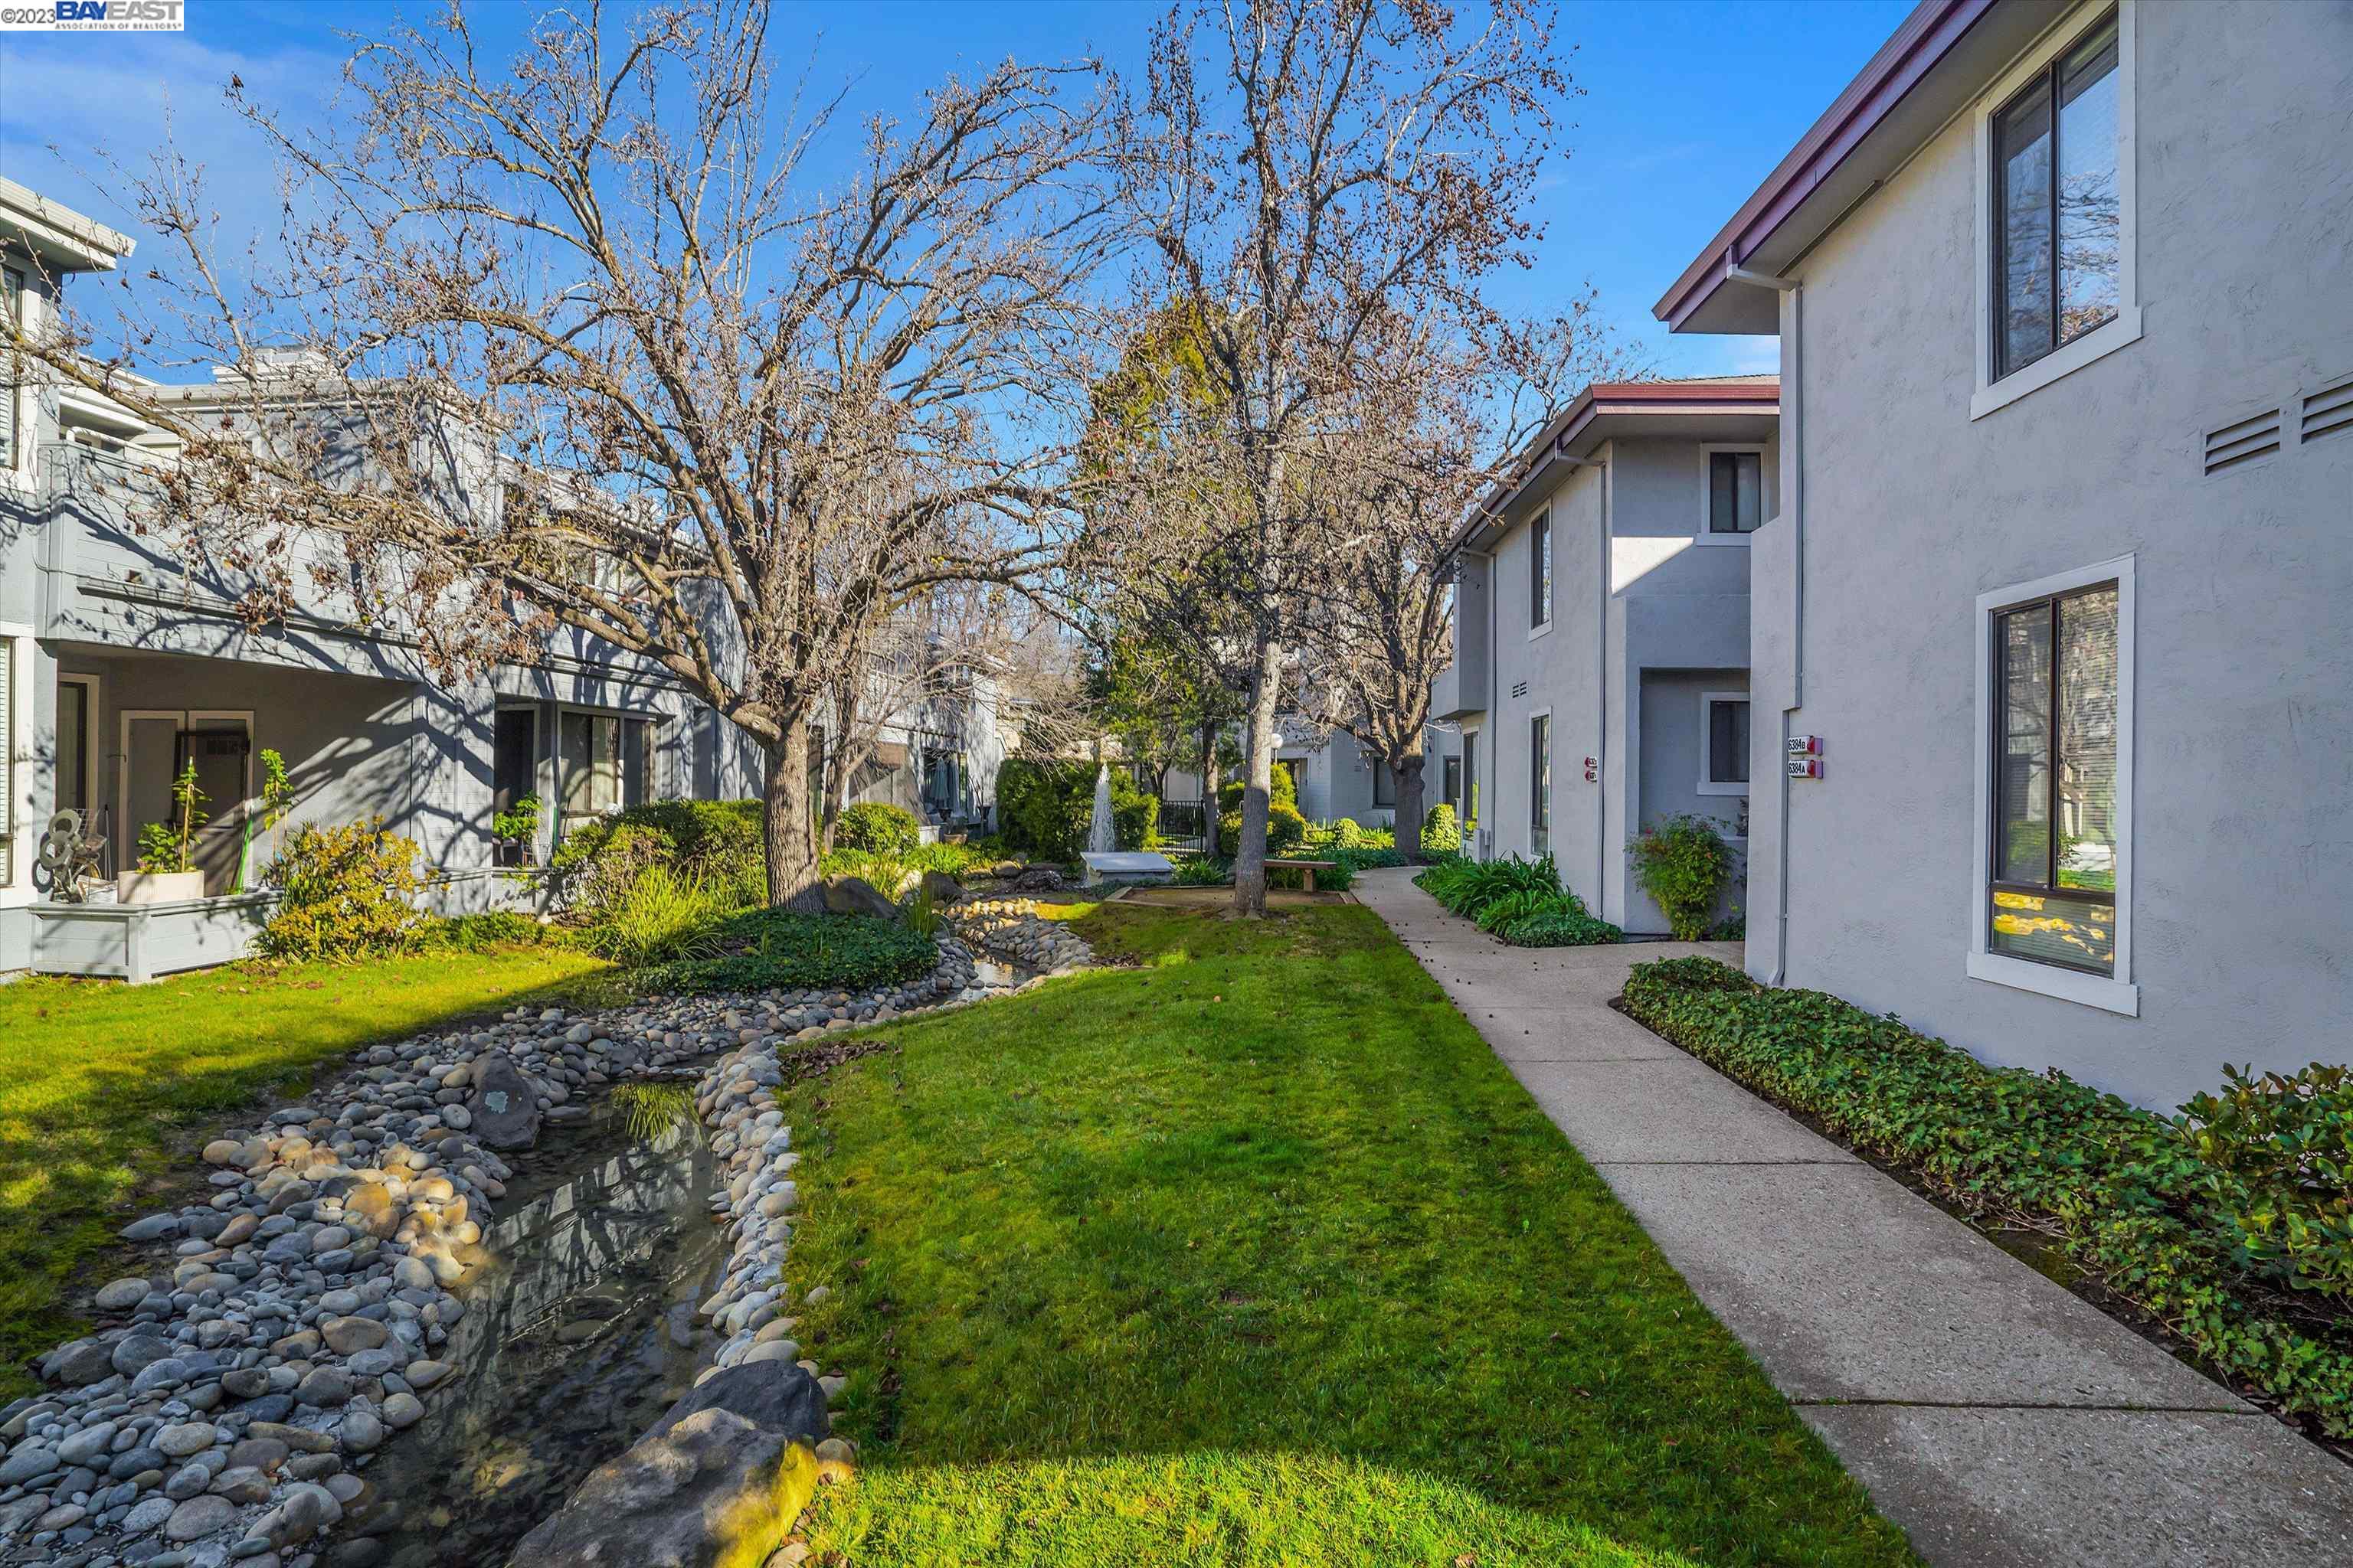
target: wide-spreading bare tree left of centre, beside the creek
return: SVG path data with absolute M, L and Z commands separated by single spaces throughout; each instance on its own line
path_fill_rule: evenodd
M 840 101 L 781 101 L 767 28 L 765 0 L 591 5 L 485 63 L 452 5 L 351 59 L 348 125 L 233 85 L 287 167 L 280 244 L 226 266 L 165 155 L 129 200 L 169 320 L 28 348 L 176 437 L 144 515 L 254 621 L 341 599 L 442 672 L 572 628 L 685 684 L 767 757 L 786 903 L 814 882 L 828 689 L 941 583 L 1045 559 L 1115 230 L 1092 66 L 951 80 L 819 193 Z M 167 339 L 219 386 L 132 376 Z

